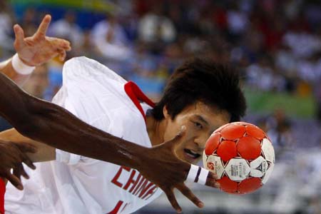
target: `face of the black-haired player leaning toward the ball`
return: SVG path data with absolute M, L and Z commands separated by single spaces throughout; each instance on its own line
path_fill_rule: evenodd
M 164 108 L 164 116 L 167 121 L 164 140 L 173 138 L 181 126 L 186 126 L 185 135 L 179 143 L 176 153 L 179 158 L 189 163 L 200 161 L 205 143 L 215 129 L 230 121 L 230 114 L 227 111 L 220 111 L 218 108 L 207 106 L 197 102 L 185 108 L 174 120 L 170 118 Z

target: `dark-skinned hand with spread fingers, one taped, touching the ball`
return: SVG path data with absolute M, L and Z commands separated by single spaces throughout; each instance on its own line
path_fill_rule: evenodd
M 144 160 L 138 170 L 141 174 L 158 185 L 167 195 L 173 208 L 180 213 L 181 208 L 173 193 L 174 188 L 180 190 L 185 197 L 191 200 L 199 208 L 203 208 L 203 203 L 192 193 L 192 191 L 184 184 L 188 172 L 191 168 L 190 163 L 180 160 L 175 155 L 175 146 L 182 140 L 185 134 L 185 129 L 180 131 L 175 138 L 167 141 L 159 146 L 149 148 L 148 160 Z M 218 188 L 216 182 L 217 176 L 213 173 L 208 173 L 205 185 L 213 188 Z

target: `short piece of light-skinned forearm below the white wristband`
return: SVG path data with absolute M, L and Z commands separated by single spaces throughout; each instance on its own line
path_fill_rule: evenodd
M 23 85 L 26 80 L 29 78 L 29 74 L 22 75 L 14 69 L 12 66 L 12 58 L 3 61 L 0 63 L 0 72 L 4 73 L 6 76 L 11 78 L 15 83 L 17 83 L 19 86 Z

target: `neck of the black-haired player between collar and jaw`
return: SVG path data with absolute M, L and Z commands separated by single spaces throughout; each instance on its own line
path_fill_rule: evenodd
M 157 146 L 164 142 L 165 120 L 157 121 L 152 115 L 146 116 L 146 126 L 152 146 Z

